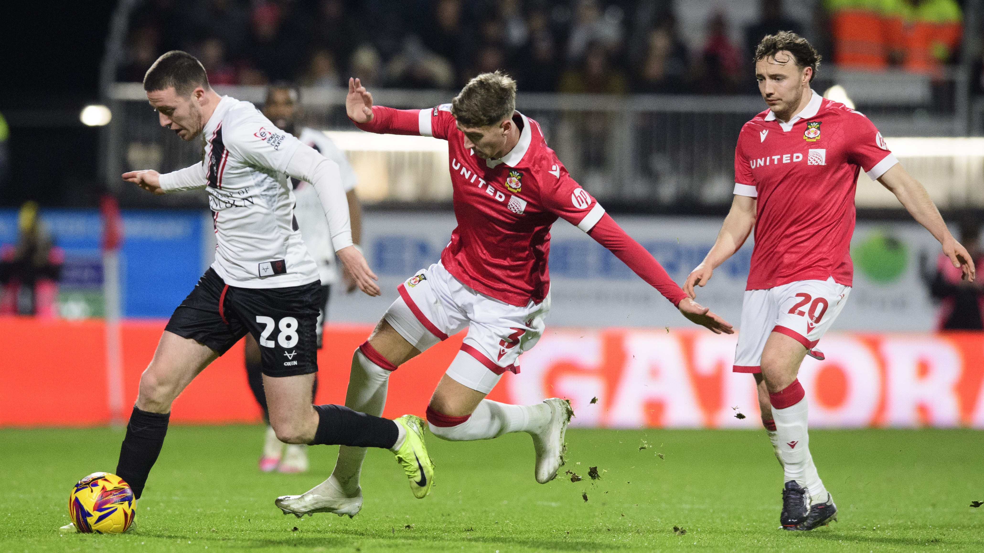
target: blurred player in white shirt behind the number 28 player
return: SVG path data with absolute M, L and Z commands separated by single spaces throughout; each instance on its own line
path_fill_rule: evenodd
M 298 138 L 302 144 L 313 148 L 319 154 L 338 163 L 341 172 L 341 187 L 348 201 L 348 213 L 351 218 L 352 244 L 358 246 L 362 234 L 362 207 L 355 196 L 355 185 L 358 177 L 352 170 L 351 164 L 332 139 L 314 129 L 297 129 L 297 119 L 300 116 L 300 91 L 291 85 L 277 83 L 267 89 L 267 99 L 263 105 L 263 114 L 270 119 L 278 129 Z M 299 131 L 299 134 L 298 134 Z M 324 325 L 328 319 L 328 302 L 331 299 L 332 284 L 338 281 L 338 271 L 335 263 L 335 248 L 332 247 L 328 220 L 318 200 L 318 193 L 310 183 L 290 179 L 294 190 L 294 218 L 300 227 L 301 237 L 308 253 L 318 264 L 318 274 L 321 276 L 321 286 L 325 293 L 325 305 L 318 315 L 315 330 L 318 333 L 318 349 L 322 348 Z M 342 266 L 341 276 L 345 283 L 345 291 L 352 292 L 356 282 Z M 260 470 L 270 472 L 277 469 L 280 472 L 304 472 L 308 469 L 306 444 L 283 444 L 277 440 L 277 432 L 270 426 L 270 413 L 267 412 L 267 396 L 263 391 L 263 360 L 260 345 L 252 335 L 243 338 L 246 343 L 246 376 L 249 380 L 253 397 L 263 409 L 263 418 L 267 421 L 267 437 L 264 441 L 263 454 L 260 456 Z M 318 391 L 318 375 L 315 373 L 311 397 Z

